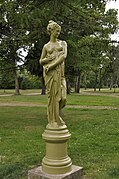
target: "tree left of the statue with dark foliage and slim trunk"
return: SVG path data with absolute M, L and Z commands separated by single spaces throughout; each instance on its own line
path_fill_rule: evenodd
M 41 38 L 42 32 L 44 32 L 44 30 L 41 30 L 44 27 L 42 24 L 46 22 L 43 15 L 45 11 L 43 4 L 46 2 L 6 0 L 1 3 L 2 58 L 5 61 L 7 59 L 8 64 L 13 64 L 17 94 L 19 93 L 17 63 L 22 61 L 19 54 L 20 49 L 31 49 L 33 44 Z M 39 75 L 39 72 L 36 72 L 36 75 Z

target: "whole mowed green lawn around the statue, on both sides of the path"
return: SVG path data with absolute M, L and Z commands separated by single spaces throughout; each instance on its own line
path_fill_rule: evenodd
M 47 97 L 0 97 L 0 102 L 47 104 Z M 112 96 L 72 94 L 67 103 L 119 107 L 119 99 Z M 84 168 L 85 179 L 118 179 L 119 110 L 63 111 L 72 134 L 68 154 L 74 165 Z M 47 125 L 46 112 L 46 107 L 0 106 L 0 179 L 25 179 L 30 168 L 41 165 L 45 155 L 42 133 Z

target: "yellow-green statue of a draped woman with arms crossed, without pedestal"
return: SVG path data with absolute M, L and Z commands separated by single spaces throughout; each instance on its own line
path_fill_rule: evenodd
M 40 63 L 43 65 L 48 93 L 48 122 L 52 126 L 62 126 L 65 123 L 60 116 L 60 111 L 66 105 L 64 62 L 67 57 L 67 43 L 58 39 L 61 26 L 56 22 L 50 20 L 47 31 L 50 40 L 43 47 Z

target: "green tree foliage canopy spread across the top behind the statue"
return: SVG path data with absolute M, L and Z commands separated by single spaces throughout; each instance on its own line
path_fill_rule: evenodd
M 66 75 L 94 70 L 109 56 L 110 34 L 117 28 L 117 11 L 105 12 L 106 1 L 98 0 L 5 0 L 1 2 L 1 57 L 7 64 L 23 61 L 20 49 L 28 49 L 25 66 L 41 75 L 39 58 L 48 41 L 50 19 L 61 27 L 68 43 Z

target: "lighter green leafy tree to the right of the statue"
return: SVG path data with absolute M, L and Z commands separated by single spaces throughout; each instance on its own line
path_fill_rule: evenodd
M 81 31 L 79 29 L 79 33 L 74 32 L 72 38 L 72 41 L 75 39 L 77 44 L 75 57 L 73 54 L 73 61 L 75 60 L 73 63 L 74 69 L 79 74 L 79 79 L 83 71 L 93 69 L 95 73 L 98 73 L 97 68 L 102 64 L 103 54 L 106 55 L 108 53 L 109 34 L 113 33 L 117 27 L 116 11 L 109 10 L 105 13 L 104 1 L 85 2 L 82 1 L 82 7 L 85 7 L 83 11 L 80 11 L 82 14 L 78 14 L 79 16 L 76 18 L 77 21 L 80 18 L 79 22 L 81 23 L 77 22 L 77 24 L 80 24 Z M 81 19 L 81 17 L 83 18 Z M 75 38 L 74 35 L 76 35 Z M 77 92 L 78 90 L 79 88 Z

